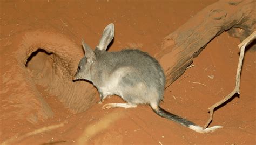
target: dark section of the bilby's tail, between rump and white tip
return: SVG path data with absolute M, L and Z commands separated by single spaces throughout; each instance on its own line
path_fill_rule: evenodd
M 153 109 L 153 108 L 152 108 Z M 190 125 L 194 125 L 196 126 L 193 122 L 186 120 L 184 118 L 181 118 L 180 116 L 177 116 L 175 114 L 172 114 L 170 112 L 165 111 L 164 109 L 162 109 L 161 107 L 158 106 L 158 110 L 153 109 L 154 113 L 156 113 L 157 115 L 175 121 L 183 126 L 189 127 Z

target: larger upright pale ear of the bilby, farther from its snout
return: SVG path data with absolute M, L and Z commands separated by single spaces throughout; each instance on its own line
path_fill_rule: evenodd
M 113 38 L 114 38 L 114 24 L 111 23 L 105 27 L 102 34 L 102 38 L 100 38 L 97 48 L 99 50 L 105 51 Z

